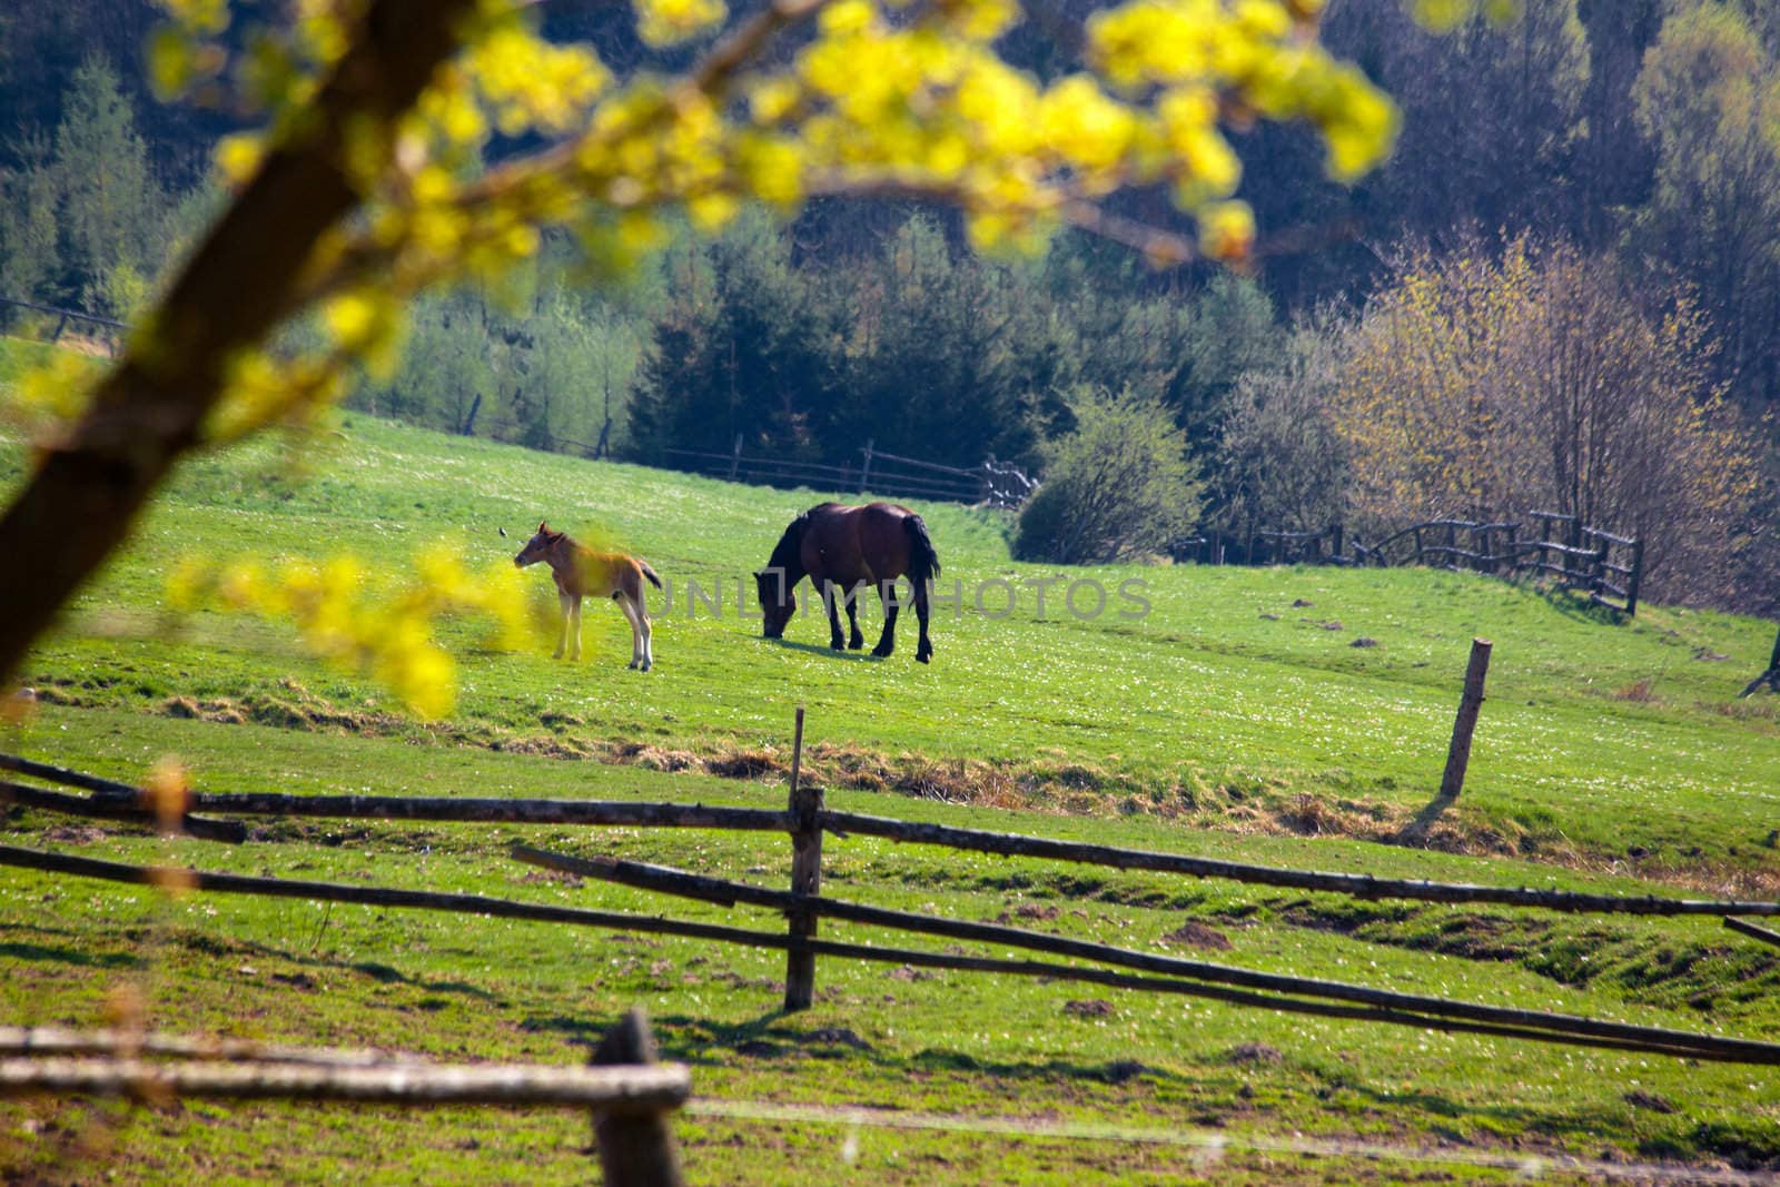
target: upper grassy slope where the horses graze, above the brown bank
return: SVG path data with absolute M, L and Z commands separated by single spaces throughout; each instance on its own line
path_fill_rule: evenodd
M 1436 844 L 1584 863 L 1632 852 L 1645 872 L 1700 884 L 1780 872 L 1762 844 L 1780 726 L 1771 701 L 1734 699 L 1766 664 L 1768 623 L 1663 607 L 1614 623 L 1561 594 L 1408 569 L 1057 571 L 1011 562 L 995 514 L 931 505 L 942 593 L 956 580 L 963 605 L 936 610 L 931 667 L 911 642 L 872 662 L 831 655 L 819 616 L 778 644 L 760 639 L 758 612 L 737 614 L 739 584 L 819 498 L 349 416 L 294 459 L 260 445 L 190 468 L 27 680 L 68 705 L 669 767 L 730 756 L 755 772 L 783 765 L 803 703 L 829 785 L 1376 838 L 1433 797 L 1468 641 L 1485 635 L 1490 701 Z M 651 603 L 655 673 L 625 671 L 612 607 L 587 607 L 578 666 L 552 662 L 548 641 L 488 653 L 466 625 L 457 712 L 422 724 L 281 628 L 199 614 L 164 634 L 162 585 L 185 555 L 352 552 L 400 566 L 454 537 L 486 562 L 545 518 L 669 578 L 673 605 L 660 593 Z M 548 578 L 527 577 L 548 621 Z M 1041 618 L 1036 582 L 1048 578 L 1063 582 Z M 1077 580 L 1107 591 L 1098 618 L 1084 618 L 1089 585 L 1077 591 L 1084 616 L 1063 605 Z M 1148 602 L 1141 618 L 1121 582 L 1143 584 L 1127 587 Z M 870 639 L 879 621 L 870 605 Z M 1376 646 L 1353 646 L 1362 637 Z

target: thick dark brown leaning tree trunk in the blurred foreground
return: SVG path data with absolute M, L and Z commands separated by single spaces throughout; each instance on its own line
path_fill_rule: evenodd
M 0 682 L 199 441 L 231 358 L 295 308 L 317 240 L 360 203 L 344 164 L 349 123 L 388 128 L 408 110 L 473 7 L 374 0 L 315 100 L 315 119 L 267 155 L 91 408 L 46 450 L 0 518 Z

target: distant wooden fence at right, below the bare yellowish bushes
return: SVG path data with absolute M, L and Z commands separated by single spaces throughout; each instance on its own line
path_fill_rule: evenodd
M 1552 578 L 1598 605 L 1627 616 L 1638 612 L 1643 541 L 1586 527 L 1554 511 L 1534 511 L 1527 518 L 1531 530 L 1520 521 L 1428 520 L 1374 543 L 1347 536 L 1340 523 L 1321 532 L 1209 532 L 1182 541 L 1177 553 L 1200 564 L 1420 564 Z

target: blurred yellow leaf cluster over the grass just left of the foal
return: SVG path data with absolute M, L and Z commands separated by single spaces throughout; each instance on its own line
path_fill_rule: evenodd
M 441 717 L 456 703 L 456 664 L 434 639 L 445 619 L 481 618 L 488 623 L 486 646 L 514 650 L 530 642 L 513 564 L 502 557 L 473 571 L 459 548 L 443 543 L 393 575 L 354 555 L 271 569 L 256 561 L 215 566 L 185 557 L 167 582 L 167 600 L 182 610 L 217 607 L 290 623 L 310 651 L 372 676 L 422 717 Z

